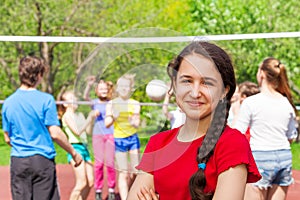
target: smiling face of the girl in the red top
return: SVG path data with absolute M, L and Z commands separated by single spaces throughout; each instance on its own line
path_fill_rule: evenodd
M 174 82 L 177 104 L 194 120 L 210 117 L 228 92 L 214 63 L 197 54 L 183 59 Z

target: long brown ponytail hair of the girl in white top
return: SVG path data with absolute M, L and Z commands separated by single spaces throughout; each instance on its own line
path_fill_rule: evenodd
M 291 88 L 285 66 L 276 58 L 268 57 L 263 60 L 260 69 L 265 72 L 266 80 L 272 87 L 285 96 L 297 113 L 296 106 L 293 102 Z

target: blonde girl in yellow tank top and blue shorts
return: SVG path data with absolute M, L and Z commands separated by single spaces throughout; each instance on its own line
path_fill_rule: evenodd
M 118 97 L 106 106 L 105 125 L 114 125 L 118 184 L 122 200 L 127 197 L 129 185 L 137 172 L 135 167 L 139 163 L 140 141 L 137 128 L 140 124 L 141 107 L 138 101 L 130 98 L 133 85 L 134 75 L 125 74 L 119 78 L 116 85 Z

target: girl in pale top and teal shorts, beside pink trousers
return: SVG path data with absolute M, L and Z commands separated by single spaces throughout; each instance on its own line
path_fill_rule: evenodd
M 74 102 L 77 101 L 77 98 L 73 92 L 67 91 L 62 95 L 62 100 Z M 78 167 L 74 167 L 74 161 L 68 155 L 68 162 L 72 164 L 76 179 L 70 199 L 86 199 L 94 185 L 94 172 L 85 136 L 86 132 L 91 132 L 96 113 L 91 111 L 88 118 L 85 119 L 82 113 L 75 112 L 77 107 L 78 105 L 73 103 L 63 104 L 64 114 L 62 116 L 62 125 L 69 142 L 83 159 L 83 162 Z

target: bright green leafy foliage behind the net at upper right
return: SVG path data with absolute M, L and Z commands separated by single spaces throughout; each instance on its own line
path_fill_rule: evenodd
M 299 31 L 298 1 L 197 0 L 189 1 L 192 23 L 190 34 L 218 35 Z M 300 87 L 300 39 L 252 39 L 218 42 L 232 55 L 238 82 L 256 82 L 256 71 L 262 60 L 272 56 L 287 67 L 290 80 Z M 294 100 L 300 101 L 299 93 Z

